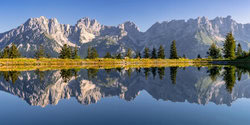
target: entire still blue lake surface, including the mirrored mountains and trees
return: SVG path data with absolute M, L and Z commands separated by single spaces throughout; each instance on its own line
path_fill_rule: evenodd
M 0 125 L 249 125 L 235 67 L 1 72 Z

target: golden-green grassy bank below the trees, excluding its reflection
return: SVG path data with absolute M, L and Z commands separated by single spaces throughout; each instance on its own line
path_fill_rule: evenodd
M 58 59 L 58 58 L 15 58 L 15 59 L 0 59 L 0 66 L 6 65 L 102 65 L 102 64 L 117 64 L 117 65 L 144 65 L 144 64 L 173 64 L 173 63 L 209 63 L 212 59 Z

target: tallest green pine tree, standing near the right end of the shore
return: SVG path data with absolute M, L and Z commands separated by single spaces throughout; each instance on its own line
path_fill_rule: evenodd
M 232 32 L 228 33 L 226 36 L 226 40 L 223 45 L 223 53 L 225 58 L 233 59 L 235 58 L 235 40 Z

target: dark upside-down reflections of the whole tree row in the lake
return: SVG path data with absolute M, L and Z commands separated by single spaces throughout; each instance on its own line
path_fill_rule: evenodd
M 176 84 L 178 67 L 168 67 L 168 68 L 170 69 L 169 81 L 172 82 L 172 84 Z M 126 73 L 126 76 L 130 78 L 134 76 L 133 72 L 136 72 L 137 76 L 143 76 L 145 77 L 146 80 L 157 80 L 157 78 L 159 80 L 163 80 L 166 74 L 165 69 L 166 69 L 165 67 L 151 67 L 151 68 L 135 68 L 134 70 L 132 68 L 128 68 L 128 69 L 116 68 L 115 70 L 117 72 L 112 72 L 113 69 L 104 69 L 104 70 L 105 70 L 105 73 L 108 75 L 106 77 L 110 77 L 110 78 L 118 77 L 122 75 L 123 73 Z M 90 68 L 86 70 L 87 70 L 88 80 L 98 79 L 99 69 Z M 78 77 L 79 71 L 80 69 L 62 69 L 60 70 L 60 75 L 64 82 L 69 82 L 69 80 L 71 80 L 73 77 L 75 79 Z M 198 67 L 198 71 L 200 71 L 200 67 Z M 242 68 L 242 67 L 236 68 L 234 66 L 224 66 L 224 67 L 223 66 L 209 66 L 207 68 L 208 76 L 211 78 L 212 82 L 215 82 L 216 80 L 218 80 L 218 78 L 222 78 L 222 80 L 225 82 L 226 90 L 229 93 L 232 93 L 236 80 L 240 81 L 242 74 L 249 73 L 249 71 L 250 70 L 248 70 L 247 68 Z M 41 71 L 39 69 L 34 71 L 35 75 L 40 80 L 40 82 L 45 82 L 46 80 L 45 72 L 46 71 Z M 188 71 L 185 71 L 185 72 L 188 72 Z M 119 75 L 114 75 L 115 73 L 119 73 Z M 12 82 L 14 84 L 18 80 L 19 76 L 21 75 L 21 72 L 1 71 L 0 74 L 7 82 Z M 165 80 L 168 81 L 168 79 L 165 79 Z

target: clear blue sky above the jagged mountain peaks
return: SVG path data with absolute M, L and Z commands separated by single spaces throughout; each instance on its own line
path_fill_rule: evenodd
M 40 16 L 71 25 L 82 17 L 105 25 L 130 20 L 142 31 L 157 21 L 198 16 L 213 19 L 231 15 L 240 23 L 250 23 L 249 5 L 250 0 L 5 0 L 0 2 L 0 32 Z

